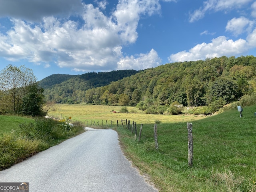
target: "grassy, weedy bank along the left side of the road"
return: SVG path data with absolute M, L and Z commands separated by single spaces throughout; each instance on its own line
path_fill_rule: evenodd
M 0 116 L 0 170 L 9 168 L 40 151 L 84 132 L 81 125 L 70 126 L 52 119 Z

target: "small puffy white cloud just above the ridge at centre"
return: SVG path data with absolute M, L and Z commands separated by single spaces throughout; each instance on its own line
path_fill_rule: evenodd
M 147 69 L 160 65 L 161 59 L 158 57 L 157 52 L 152 49 L 147 54 L 140 54 L 137 57 L 126 56 L 121 58 L 118 62 L 118 70 L 123 69 Z

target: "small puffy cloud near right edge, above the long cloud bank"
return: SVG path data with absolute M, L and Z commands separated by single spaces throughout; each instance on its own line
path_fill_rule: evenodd
M 252 31 L 253 25 L 254 21 L 250 21 L 245 17 L 233 18 L 232 20 L 228 21 L 226 31 L 230 31 L 235 36 L 238 36 L 244 32 L 250 33 Z

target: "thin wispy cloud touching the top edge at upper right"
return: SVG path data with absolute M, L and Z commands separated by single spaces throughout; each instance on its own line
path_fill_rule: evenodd
M 204 18 L 206 12 L 213 10 L 214 12 L 223 10 L 232 10 L 240 8 L 252 0 L 207 0 L 203 2 L 203 6 L 195 10 L 189 15 L 189 22 L 195 22 Z

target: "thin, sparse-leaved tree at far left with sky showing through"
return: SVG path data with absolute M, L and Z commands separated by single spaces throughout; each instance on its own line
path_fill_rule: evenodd
M 24 65 L 20 67 L 9 64 L 0 72 L 0 89 L 6 94 L 6 102 L 11 102 L 10 111 L 14 114 L 20 112 L 22 97 L 26 87 L 35 83 L 36 77 L 31 69 Z

